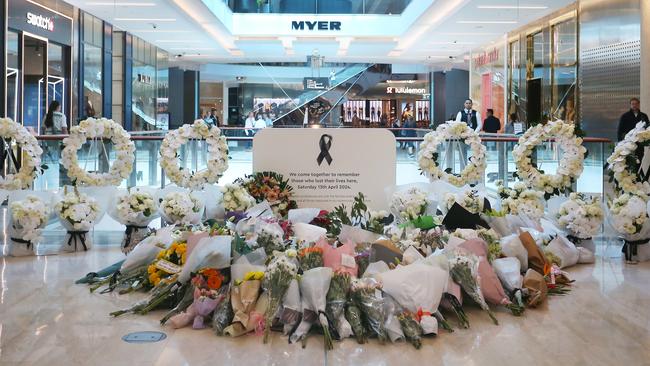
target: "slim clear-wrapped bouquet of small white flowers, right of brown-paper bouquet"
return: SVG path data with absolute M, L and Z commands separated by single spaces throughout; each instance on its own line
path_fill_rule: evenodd
M 266 267 L 262 287 L 269 296 L 269 306 L 266 310 L 264 326 L 264 342 L 266 343 L 269 331 L 276 313 L 280 308 L 282 299 L 289 289 L 291 281 L 298 274 L 298 266 L 285 253 L 277 253 Z

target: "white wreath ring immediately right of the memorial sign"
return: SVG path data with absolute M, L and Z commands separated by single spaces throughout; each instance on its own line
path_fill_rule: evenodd
M 472 152 L 469 162 L 460 174 L 446 172 L 438 165 L 438 146 L 447 140 L 461 140 L 469 145 Z M 476 183 L 482 180 L 485 174 L 485 146 L 481 143 L 478 133 L 465 122 L 444 123 L 424 136 L 418 152 L 418 163 L 431 180 L 441 179 L 458 187 Z

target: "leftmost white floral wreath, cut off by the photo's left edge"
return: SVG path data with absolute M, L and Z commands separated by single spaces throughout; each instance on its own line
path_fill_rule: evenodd
M 0 118 L 0 138 L 2 144 L 6 139 L 13 139 L 23 152 L 22 165 L 15 174 L 0 177 L 0 189 L 16 190 L 28 188 L 41 169 L 43 149 L 29 131 L 10 118 Z M 3 147 L 4 148 L 4 147 Z

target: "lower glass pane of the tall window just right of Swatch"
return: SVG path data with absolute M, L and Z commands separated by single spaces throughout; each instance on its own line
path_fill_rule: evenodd
M 102 115 L 102 49 L 84 45 L 84 113 L 85 117 Z

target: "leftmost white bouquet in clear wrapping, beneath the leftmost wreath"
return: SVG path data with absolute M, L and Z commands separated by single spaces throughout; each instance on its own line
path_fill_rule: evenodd
M 9 255 L 34 254 L 34 247 L 42 239 L 42 229 L 50 218 L 51 201 L 52 196 L 47 192 L 14 191 L 9 194 Z

